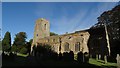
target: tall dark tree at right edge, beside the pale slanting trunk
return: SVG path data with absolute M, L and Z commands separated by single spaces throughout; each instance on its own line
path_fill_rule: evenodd
M 108 31 L 109 41 L 110 41 L 110 47 L 107 49 L 110 49 L 110 52 L 111 52 L 110 57 L 115 60 L 117 53 L 120 53 L 120 46 L 119 46 L 120 5 L 119 4 L 115 6 L 112 10 L 103 12 L 100 15 L 100 17 L 98 17 L 98 23 L 92 26 L 91 29 L 105 28 L 104 24 L 106 24 L 107 26 L 107 31 Z M 106 58 L 106 56 L 104 58 Z

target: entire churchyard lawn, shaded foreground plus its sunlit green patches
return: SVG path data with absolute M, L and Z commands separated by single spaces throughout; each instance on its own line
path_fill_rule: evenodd
M 36 66 L 36 65 L 42 65 L 42 66 L 48 66 L 48 67 L 91 67 L 92 68 L 117 68 L 116 63 L 106 63 L 104 64 L 103 60 L 95 60 L 90 58 L 89 59 L 89 64 L 83 64 L 83 63 L 78 63 L 76 61 L 74 62 L 67 62 L 67 61 L 53 61 L 53 60 L 47 60 L 47 61 L 40 61 L 36 62 L 32 59 L 27 58 L 28 54 L 17 54 L 17 57 L 14 60 L 5 60 L 4 61 L 4 66 Z M 97 66 L 97 67 L 96 67 Z

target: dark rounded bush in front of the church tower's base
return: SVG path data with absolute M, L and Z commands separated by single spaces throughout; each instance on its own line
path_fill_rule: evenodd
M 39 60 L 57 59 L 57 53 L 51 49 L 50 45 L 38 44 L 33 46 L 33 55 Z

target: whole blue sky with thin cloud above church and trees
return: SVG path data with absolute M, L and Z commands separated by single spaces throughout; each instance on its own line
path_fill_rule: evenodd
M 11 33 L 12 41 L 18 32 L 33 38 L 35 21 L 45 18 L 50 31 L 57 34 L 71 33 L 90 28 L 97 17 L 112 9 L 116 2 L 3 2 L 2 36 Z

